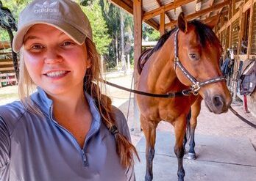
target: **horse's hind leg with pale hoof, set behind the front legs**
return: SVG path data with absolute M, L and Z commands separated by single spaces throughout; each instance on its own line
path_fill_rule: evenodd
M 188 159 L 196 159 L 196 152 L 195 152 L 195 130 L 196 130 L 196 124 L 197 124 L 197 117 L 199 116 L 199 113 L 201 111 L 201 102 L 202 97 L 198 97 L 196 99 L 196 102 L 193 103 L 191 106 L 191 138 L 189 141 L 189 151 L 188 151 Z

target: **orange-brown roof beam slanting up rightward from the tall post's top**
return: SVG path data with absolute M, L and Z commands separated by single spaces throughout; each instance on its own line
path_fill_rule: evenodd
M 143 20 L 148 20 L 153 18 L 154 16 L 160 15 L 163 12 L 174 10 L 177 7 L 180 7 L 184 4 L 188 4 L 194 0 L 179 0 L 179 1 L 173 1 L 169 4 L 163 5 L 161 7 L 156 8 L 155 10 L 145 12 L 143 15 Z

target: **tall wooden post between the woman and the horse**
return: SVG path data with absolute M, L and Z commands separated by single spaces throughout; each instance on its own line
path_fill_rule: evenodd
M 141 55 L 142 45 L 142 0 L 133 0 L 133 19 L 134 19 L 134 88 L 138 87 L 138 58 Z M 140 113 L 138 105 L 135 100 L 133 102 L 134 111 L 134 130 L 135 132 L 141 132 Z

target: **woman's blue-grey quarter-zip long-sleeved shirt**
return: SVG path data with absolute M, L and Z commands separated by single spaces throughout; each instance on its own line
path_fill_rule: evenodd
M 102 123 L 87 92 L 92 125 L 83 149 L 52 114 L 52 100 L 38 88 L 31 98 L 44 117 L 20 101 L 0 106 L 1 181 L 122 181 L 135 180 L 134 170 L 124 168 L 115 152 L 115 138 Z M 124 114 L 113 107 L 118 130 L 130 138 Z

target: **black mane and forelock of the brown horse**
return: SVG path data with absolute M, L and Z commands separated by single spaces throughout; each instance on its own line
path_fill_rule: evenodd
M 209 42 L 210 44 L 215 44 L 215 45 L 221 46 L 220 42 L 218 40 L 218 37 L 216 37 L 216 34 L 213 32 L 212 29 L 210 29 L 209 26 L 207 26 L 204 23 L 201 23 L 200 21 L 196 21 L 196 20 L 190 21 L 188 23 L 195 26 L 197 39 L 198 39 L 198 42 L 200 43 L 200 45 L 202 45 L 202 47 L 205 47 L 207 42 Z M 168 37 L 170 37 L 171 34 L 176 32 L 177 29 L 178 28 L 176 26 L 174 29 L 171 29 L 170 32 L 163 34 L 162 37 L 160 37 L 160 39 L 158 40 L 157 45 L 155 45 L 154 48 L 152 48 L 152 51 L 150 51 L 147 54 L 145 59 L 146 60 L 149 59 L 149 57 L 152 56 L 152 54 L 155 51 L 158 51 L 163 46 L 163 44 L 166 43 L 166 40 L 168 39 Z

